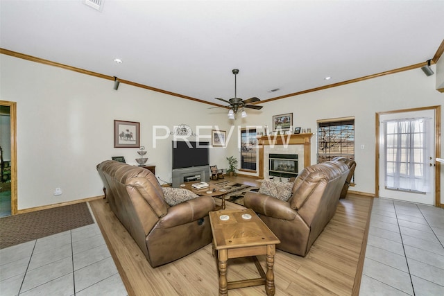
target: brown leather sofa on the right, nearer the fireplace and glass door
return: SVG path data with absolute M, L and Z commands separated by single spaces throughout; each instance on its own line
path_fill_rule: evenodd
M 298 175 L 289 200 L 248 192 L 244 204 L 278 236 L 278 249 L 305 256 L 333 218 L 349 171 L 344 162 L 314 164 Z

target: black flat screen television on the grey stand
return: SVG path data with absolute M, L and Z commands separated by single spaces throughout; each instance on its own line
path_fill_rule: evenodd
M 210 143 L 204 141 L 172 141 L 173 170 L 210 165 Z

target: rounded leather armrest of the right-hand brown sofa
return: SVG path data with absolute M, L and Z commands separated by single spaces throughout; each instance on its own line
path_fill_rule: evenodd
M 245 194 L 244 205 L 257 214 L 284 220 L 296 218 L 296 211 L 291 209 L 289 202 L 270 195 L 249 191 Z

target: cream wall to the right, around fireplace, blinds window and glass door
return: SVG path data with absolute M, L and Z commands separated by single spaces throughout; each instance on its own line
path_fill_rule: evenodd
M 355 159 L 357 162 L 355 182 L 357 184 L 350 190 L 374 194 L 375 114 L 442 105 L 444 94 L 435 90 L 435 80 L 435 76 L 427 77 L 418 68 L 284 98 L 265 103 L 261 114 L 248 112 L 248 124 L 268 125 L 271 128 L 273 115 L 293 112 L 295 127 L 311 128 L 311 132 L 316 132 L 318 119 L 355 116 Z M 443 114 L 441 114 L 441 119 L 444 119 Z M 441 130 L 444 130 L 443 122 L 441 122 Z M 364 145 L 364 150 L 361 150 L 361 145 Z M 444 145 L 441 147 L 441 157 L 444 155 L 443 148 Z M 311 138 L 311 164 L 315 163 L 316 135 Z M 443 171 L 441 168 L 441 186 L 444 186 Z

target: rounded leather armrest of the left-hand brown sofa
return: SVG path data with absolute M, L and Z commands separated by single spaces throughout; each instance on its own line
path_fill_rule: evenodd
M 207 195 L 181 202 L 168 208 L 167 215 L 160 218 L 157 227 L 170 228 L 196 221 L 208 216 L 208 212 L 214 211 L 215 207 L 214 199 Z

